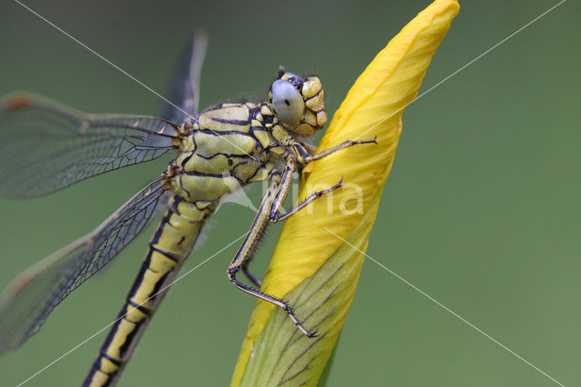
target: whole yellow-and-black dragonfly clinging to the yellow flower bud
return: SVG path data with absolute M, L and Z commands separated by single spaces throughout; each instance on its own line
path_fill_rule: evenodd
M 327 121 L 322 84 L 317 76 L 292 74 L 283 67 L 271 83 L 268 101 L 217 104 L 198 112 L 206 47 L 206 35 L 193 35 L 174 76 L 170 101 L 179 104 L 168 104 L 161 117 L 84 114 L 34 94 L 5 97 L 0 110 L 2 196 L 37 197 L 168 152 L 173 158 L 160 177 L 92 233 L 34 264 L 7 287 L 0 302 L 0 353 L 38 332 L 58 303 L 111 262 L 164 209 L 133 286 L 83 382 L 114 385 L 222 198 L 255 182 L 268 182 L 268 189 L 228 266 L 228 279 L 241 291 L 281 307 L 306 336 L 317 335 L 300 323 L 291 305 L 261 292 L 261 280 L 248 265 L 269 223 L 287 219 L 342 184 L 341 179 L 284 212 L 296 172 L 375 140 L 346 141 L 316 153 L 307 139 Z M 241 272 L 250 284 L 237 278 Z

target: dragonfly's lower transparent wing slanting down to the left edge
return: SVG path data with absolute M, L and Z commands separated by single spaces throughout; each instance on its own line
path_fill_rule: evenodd
M 20 274 L 0 301 L 0 353 L 37 332 L 54 307 L 109 263 L 153 217 L 165 192 L 163 180 L 137 193 L 103 222 L 64 249 Z

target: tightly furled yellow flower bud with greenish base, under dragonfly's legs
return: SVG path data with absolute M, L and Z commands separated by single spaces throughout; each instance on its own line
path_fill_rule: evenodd
M 401 114 L 418 94 L 458 9 L 457 1 L 438 0 L 417 15 L 359 76 L 334 115 L 319 151 L 346 140 L 377 138 L 378 144 L 355 145 L 305 168 L 300 198 L 341 177 L 344 187 L 289 218 L 261 288 L 287 299 L 308 329 L 323 334 L 303 337 L 284 311 L 258 302 L 233 386 L 319 380 L 355 293 L 362 252 L 398 146 Z

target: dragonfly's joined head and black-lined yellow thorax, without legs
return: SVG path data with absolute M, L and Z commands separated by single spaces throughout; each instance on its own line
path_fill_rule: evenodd
M 318 77 L 280 69 L 269 102 L 217 104 L 196 114 L 180 129 L 166 186 L 189 202 L 215 203 L 241 186 L 269 179 L 275 161 L 288 157 L 298 137 L 326 123 L 323 99 Z

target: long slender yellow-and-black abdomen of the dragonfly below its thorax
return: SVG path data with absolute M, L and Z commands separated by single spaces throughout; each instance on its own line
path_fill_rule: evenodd
M 147 323 L 167 288 L 191 252 L 214 205 L 189 203 L 173 196 L 162 222 L 153 234 L 142 268 L 84 386 L 110 386 L 131 357 Z

